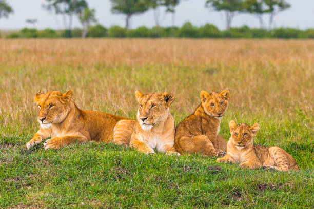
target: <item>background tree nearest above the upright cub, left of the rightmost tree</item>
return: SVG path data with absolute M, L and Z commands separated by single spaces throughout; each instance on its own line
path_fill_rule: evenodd
M 206 0 L 206 7 L 225 12 L 227 29 L 231 27 L 234 15 L 237 12 L 244 12 L 243 0 Z

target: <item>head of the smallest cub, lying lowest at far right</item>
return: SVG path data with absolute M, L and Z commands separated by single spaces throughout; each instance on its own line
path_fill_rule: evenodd
M 229 122 L 229 128 L 231 134 L 230 140 L 232 144 L 239 150 L 253 144 L 254 136 L 260 129 L 258 123 L 254 123 L 253 126 L 250 127 L 246 123 L 237 125 L 237 123 L 235 123 L 233 120 Z

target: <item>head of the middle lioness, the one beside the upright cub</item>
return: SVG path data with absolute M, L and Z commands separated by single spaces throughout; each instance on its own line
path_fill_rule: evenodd
M 150 130 L 156 124 L 165 121 L 170 114 L 169 106 L 174 101 L 174 95 L 169 93 L 143 94 L 135 92 L 139 103 L 136 120 L 144 131 Z

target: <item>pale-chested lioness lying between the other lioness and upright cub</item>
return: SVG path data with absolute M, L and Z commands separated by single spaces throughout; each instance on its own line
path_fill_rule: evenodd
M 136 120 L 119 121 L 114 128 L 114 142 L 146 154 L 156 149 L 179 156 L 174 149 L 174 119 L 169 110 L 174 95 L 136 91 L 135 96 L 139 103 Z

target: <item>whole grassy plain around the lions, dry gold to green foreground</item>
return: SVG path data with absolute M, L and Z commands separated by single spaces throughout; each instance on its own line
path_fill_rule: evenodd
M 200 91 L 230 91 L 228 122 L 260 124 L 300 172 L 249 170 L 200 155 L 112 143 L 27 150 L 36 92 L 72 89 L 81 109 L 135 118 L 134 92 L 170 92 L 178 124 Z M 312 208 L 314 41 L 0 39 L 0 208 Z

